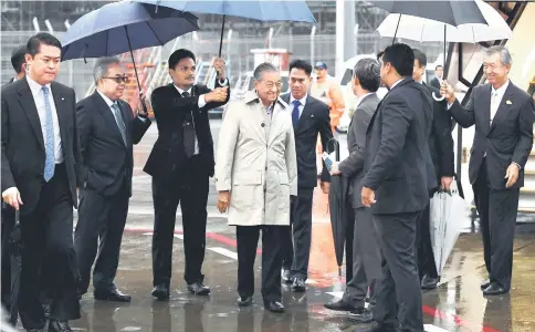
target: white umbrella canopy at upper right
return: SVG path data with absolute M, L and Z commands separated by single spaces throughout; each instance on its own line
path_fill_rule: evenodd
M 391 13 L 377 28 L 377 31 L 381 37 L 397 37 L 420 42 L 444 41 L 444 27 L 445 42 L 476 43 L 513 37 L 507 22 L 494 8 L 482 0 L 475 0 L 475 3 L 489 25 L 465 23 L 454 27 L 430 19 Z

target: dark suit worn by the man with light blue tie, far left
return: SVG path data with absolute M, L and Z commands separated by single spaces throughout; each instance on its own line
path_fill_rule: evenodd
M 63 163 L 53 177 L 43 177 L 45 147 L 41 122 L 28 80 L 2 87 L 2 191 L 17 187 L 20 209 L 22 272 L 19 312 L 25 329 L 44 326 L 39 295 L 45 281 L 56 320 L 80 318 L 75 293 L 76 266 L 72 240 L 73 207 L 77 207 L 80 145 L 74 112 L 74 91 L 53 82 L 50 85 L 60 126 Z M 43 260 L 46 263 L 43 264 Z M 42 269 L 43 268 L 43 269 Z

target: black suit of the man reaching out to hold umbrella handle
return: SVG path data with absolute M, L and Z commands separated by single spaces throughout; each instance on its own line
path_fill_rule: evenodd
M 219 82 L 217 83 L 219 87 Z M 155 226 L 153 236 L 154 286 L 169 287 L 171 279 L 172 239 L 178 204 L 181 203 L 185 279 L 188 284 L 203 280 L 208 179 L 213 176 L 213 141 L 208 110 L 224 103 L 208 103 L 199 108 L 199 96 L 210 92 L 195 85 L 190 96 L 180 95 L 174 84 L 156 89 L 151 104 L 158 125 L 158 139 L 144 170 L 153 176 Z M 230 96 L 230 90 L 229 90 Z M 192 117 L 191 117 L 192 116 Z M 182 126 L 195 124 L 199 153 L 188 158 L 185 152 Z

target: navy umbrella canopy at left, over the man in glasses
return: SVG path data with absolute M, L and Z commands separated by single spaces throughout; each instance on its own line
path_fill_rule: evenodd
M 112 56 L 133 50 L 165 45 L 199 30 L 188 12 L 133 1 L 105 4 L 74 22 L 62 38 L 62 60 Z

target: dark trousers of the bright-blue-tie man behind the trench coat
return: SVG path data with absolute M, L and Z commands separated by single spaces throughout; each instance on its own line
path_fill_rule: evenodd
M 312 198 L 314 188 L 300 188 L 292 201 L 289 231 L 282 245 L 283 268 L 293 278 L 308 277 L 312 242 Z

